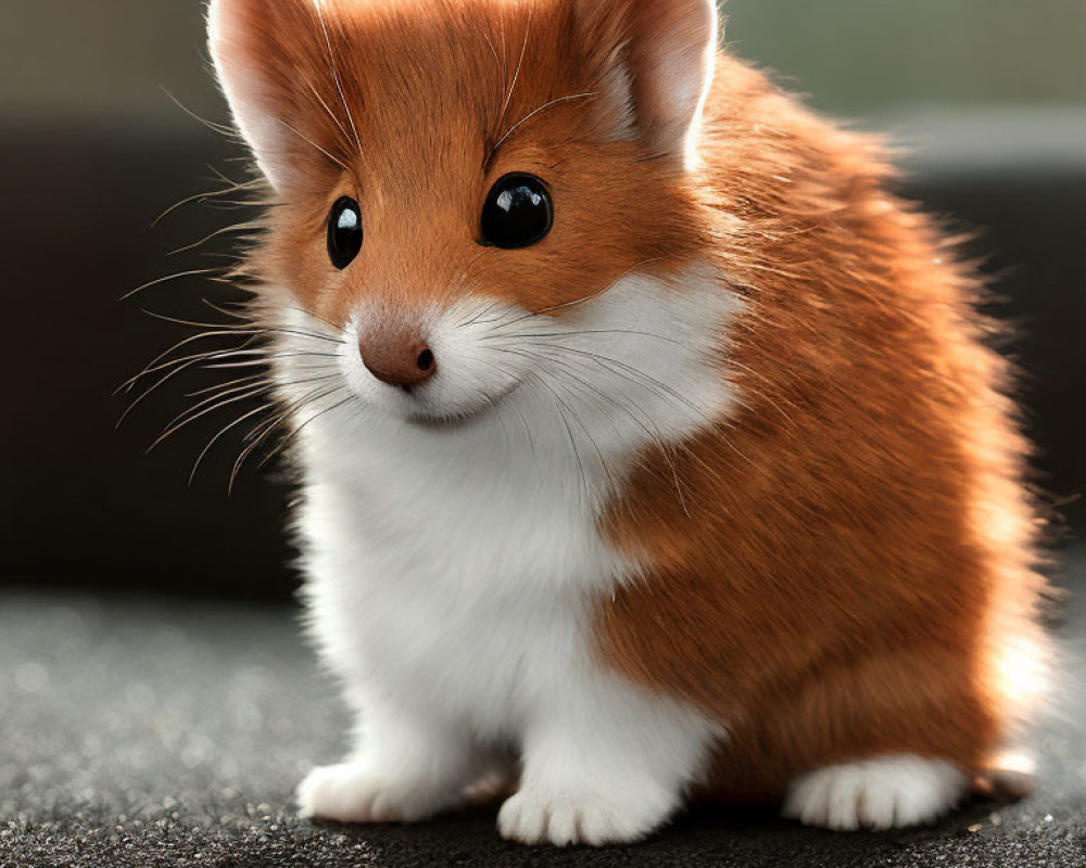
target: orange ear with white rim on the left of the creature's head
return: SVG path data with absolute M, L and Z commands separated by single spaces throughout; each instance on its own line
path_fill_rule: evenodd
M 324 24 L 319 2 L 211 0 L 207 8 L 209 48 L 235 124 L 280 191 L 298 169 L 300 61 Z

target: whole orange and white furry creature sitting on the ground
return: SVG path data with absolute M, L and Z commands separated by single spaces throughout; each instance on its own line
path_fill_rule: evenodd
M 958 803 L 1038 678 L 1036 521 L 977 282 L 876 144 L 719 51 L 708 0 L 212 0 L 210 28 L 274 203 L 247 270 L 312 636 L 357 715 L 303 813 L 420 820 L 504 775 L 503 835 L 603 844 L 691 799 L 833 829 Z M 553 201 L 512 250 L 480 239 L 509 173 Z

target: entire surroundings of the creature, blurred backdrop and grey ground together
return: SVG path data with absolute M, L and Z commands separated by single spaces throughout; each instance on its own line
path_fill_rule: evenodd
M 238 146 L 194 117 L 228 119 L 203 3 L 2 9 L 0 865 L 514 864 L 485 810 L 409 830 L 296 818 L 294 786 L 342 755 L 348 718 L 295 609 L 252 604 L 298 585 L 290 488 L 254 460 L 228 493 L 244 427 L 189 485 L 248 406 L 147 454 L 200 399 L 199 376 L 164 383 L 116 427 L 139 393 L 114 391 L 193 333 L 143 311 L 219 320 L 202 299 L 237 296 L 194 273 L 228 261 L 229 238 L 171 255 L 251 215 L 243 196 L 202 195 L 247 177 Z M 1086 546 L 1070 548 L 1086 532 L 1086 0 L 731 0 L 727 13 L 736 52 L 889 133 L 908 149 L 901 191 L 972 233 L 994 312 L 1019 327 L 1002 349 L 1025 373 L 1037 480 L 1061 516 L 1057 582 L 1086 587 Z M 1059 620 L 1058 719 L 1032 736 L 1038 793 L 1014 807 L 982 802 L 900 835 L 703 813 L 636 855 L 558 864 L 1077 865 L 1086 593 Z

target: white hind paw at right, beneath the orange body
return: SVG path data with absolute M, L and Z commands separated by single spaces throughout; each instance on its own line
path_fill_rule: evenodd
M 912 754 L 842 763 L 793 781 L 783 814 L 838 831 L 917 826 L 957 805 L 968 782 L 950 763 Z

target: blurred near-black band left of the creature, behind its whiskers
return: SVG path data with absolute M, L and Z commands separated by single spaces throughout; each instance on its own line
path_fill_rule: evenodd
M 168 254 L 251 212 L 192 202 L 152 222 L 174 203 L 224 188 L 210 165 L 241 179 L 237 156 L 195 122 L 180 131 L 106 119 L 42 122 L 0 135 L 0 159 L 21 167 L 7 187 L 0 228 L 9 273 L 23 286 L 9 293 L 0 349 L 11 372 L 0 448 L 16 468 L 0 488 L 0 582 L 279 599 L 292 587 L 286 487 L 276 484 L 275 469 L 245 473 L 227 493 L 245 429 L 223 436 L 188 487 L 203 446 L 251 404 L 209 413 L 144 455 L 177 413 L 200 400 L 192 393 L 228 380 L 227 371 L 184 372 L 116 429 L 125 408 L 160 378 L 128 395 L 114 391 L 199 331 L 142 310 L 222 321 L 203 299 L 238 297 L 207 276 L 190 275 L 117 301 L 148 281 L 228 261 L 229 243 L 214 240 Z M 205 344 L 190 346 L 194 353 Z

